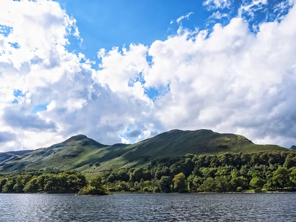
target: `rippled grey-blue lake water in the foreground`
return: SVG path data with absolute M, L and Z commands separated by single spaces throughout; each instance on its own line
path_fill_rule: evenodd
M 0 222 L 296 222 L 296 193 L 0 194 Z

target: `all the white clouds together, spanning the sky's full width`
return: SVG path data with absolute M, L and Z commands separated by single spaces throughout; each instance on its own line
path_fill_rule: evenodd
M 229 7 L 229 1 L 205 2 Z M 256 7 L 244 5 L 244 11 Z M 216 24 L 210 34 L 181 27 L 149 47 L 98 49 L 102 62 L 94 70 L 93 61 L 66 50 L 68 36 L 80 38 L 79 31 L 57 2 L 0 2 L 0 25 L 12 29 L 0 32 L 0 149 L 46 147 L 79 133 L 105 144 L 130 143 L 128 134 L 141 140 L 172 128 L 209 128 L 291 146 L 295 21 L 296 6 L 280 23 L 260 24 L 257 34 L 239 17 Z M 162 90 L 154 102 L 149 88 Z M 22 91 L 17 98 L 16 89 Z M 31 113 L 40 104 L 48 104 L 46 110 Z

